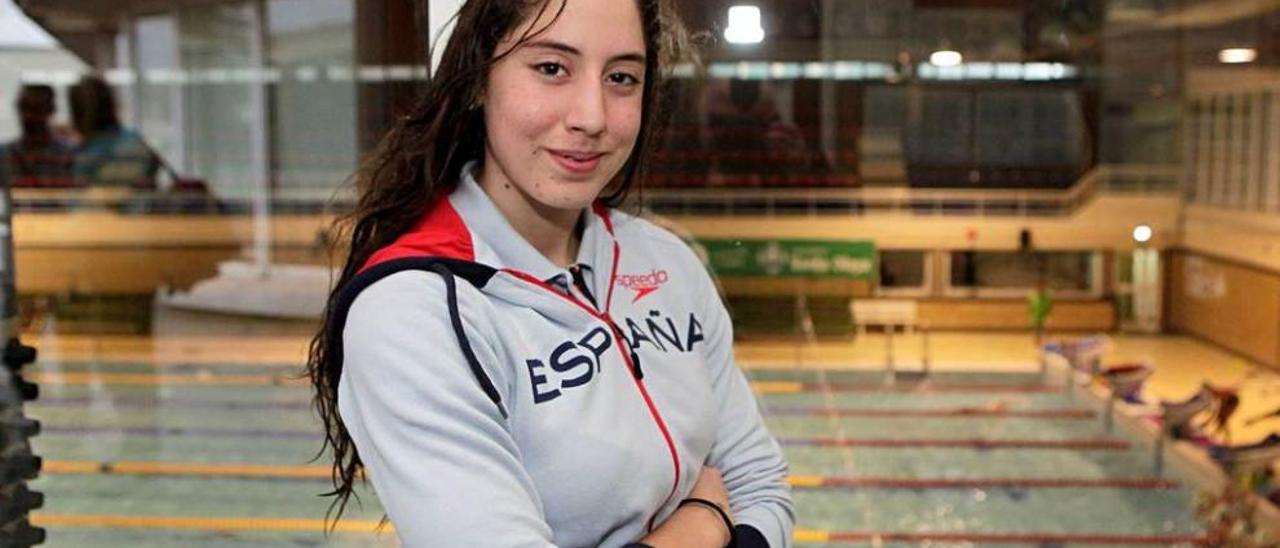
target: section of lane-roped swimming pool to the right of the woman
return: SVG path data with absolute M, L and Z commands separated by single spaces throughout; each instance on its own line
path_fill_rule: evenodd
M 1039 375 L 750 375 L 801 480 L 800 539 L 1190 545 L 1202 534 L 1197 488 L 1157 475 L 1149 440 L 1107 433 L 1091 397 Z

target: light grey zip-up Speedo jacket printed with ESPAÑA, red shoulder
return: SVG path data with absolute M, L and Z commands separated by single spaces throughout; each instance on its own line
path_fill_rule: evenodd
M 739 545 L 791 545 L 787 465 L 698 257 L 598 206 L 558 268 L 472 170 L 330 315 L 338 408 L 404 545 L 626 545 L 704 463 Z

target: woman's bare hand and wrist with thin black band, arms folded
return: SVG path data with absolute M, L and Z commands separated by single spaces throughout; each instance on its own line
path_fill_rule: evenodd
M 703 466 L 689 497 L 712 501 L 732 519 L 719 470 Z M 719 513 L 703 504 L 685 504 L 640 542 L 654 548 L 723 548 L 731 539 L 732 531 Z

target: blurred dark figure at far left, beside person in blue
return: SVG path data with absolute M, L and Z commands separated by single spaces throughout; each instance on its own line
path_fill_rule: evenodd
M 58 136 L 49 120 L 56 110 L 54 88 L 27 85 L 14 101 L 22 136 L 0 147 L 0 164 L 17 188 L 68 188 L 72 178 L 72 146 Z

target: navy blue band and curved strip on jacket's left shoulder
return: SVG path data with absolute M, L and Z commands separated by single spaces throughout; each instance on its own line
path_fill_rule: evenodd
M 458 311 L 458 291 L 454 278 L 462 278 L 476 288 L 481 288 L 489 283 L 489 279 L 493 278 L 494 274 L 497 274 L 495 269 L 479 262 L 444 257 L 407 257 L 380 262 L 369 270 L 356 274 L 356 277 L 352 278 L 351 282 L 348 282 L 347 286 L 334 296 L 333 302 L 329 303 L 329 321 L 325 325 L 325 330 L 328 332 L 332 347 L 325 353 L 325 359 L 330 361 L 329 364 L 325 364 L 325 366 L 337 369 L 342 367 L 342 330 L 347 325 L 347 315 L 351 312 L 351 305 L 356 302 L 356 297 L 358 297 L 361 292 L 369 288 L 369 286 L 372 286 L 375 282 L 404 270 L 433 271 L 444 279 L 445 305 L 449 310 L 449 324 L 453 326 L 453 334 L 458 339 L 462 355 L 466 357 L 467 365 L 471 366 L 471 374 L 475 375 L 476 382 L 480 383 L 480 389 L 484 391 L 485 396 L 488 396 L 495 406 L 498 406 L 498 412 L 500 412 L 506 419 L 507 408 L 502 405 L 502 396 L 498 394 L 497 387 L 494 387 L 493 380 L 484 371 L 484 367 L 480 366 L 480 360 L 476 359 L 475 352 L 471 350 L 471 342 L 467 339 L 467 334 L 462 329 L 462 315 Z

